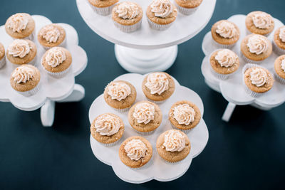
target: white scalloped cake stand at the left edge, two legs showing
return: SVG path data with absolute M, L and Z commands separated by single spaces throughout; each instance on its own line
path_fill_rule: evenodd
M 36 33 L 48 23 L 49 19 L 44 16 L 33 15 L 36 22 Z M 66 24 L 58 23 L 66 30 L 66 48 L 71 52 L 73 63 L 72 71 L 68 72 L 64 78 L 56 79 L 49 76 L 41 68 L 41 56 L 46 51 L 38 43 L 37 38 L 33 39 L 37 47 L 36 67 L 41 72 L 41 89 L 36 95 L 25 97 L 17 93 L 10 85 L 10 75 L 19 65 L 10 63 L 6 59 L 6 65 L 0 69 L 0 101 L 11 102 L 20 110 L 32 111 L 41 107 L 41 122 L 43 126 L 51 127 L 53 125 L 55 102 L 76 102 L 82 100 L 85 90 L 81 85 L 75 84 L 75 76 L 79 75 L 87 65 L 86 52 L 78 46 L 78 34 L 76 30 Z M 5 26 L 0 27 L 1 43 L 5 49 L 13 41 L 5 31 Z

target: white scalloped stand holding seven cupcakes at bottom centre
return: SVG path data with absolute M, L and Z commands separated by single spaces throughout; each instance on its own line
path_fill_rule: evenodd
M 147 100 L 141 90 L 141 84 L 144 77 L 145 75 L 140 74 L 125 74 L 120 75 L 118 78 L 115 78 L 115 80 L 125 80 L 132 83 L 137 90 L 136 102 L 139 102 L 142 100 Z M 105 112 L 111 112 L 122 118 L 125 124 L 125 133 L 123 134 L 122 139 L 120 139 L 119 144 L 117 144 L 115 147 L 105 147 L 93 139 L 92 135 L 90 135 L 90 144 L 93 154 L 101 162 L 110 165 L 113 168 L 115 174 L 120 179 L 129 183 L 140 184 L 152 179 L 156 179 L 157 181 L 172 181 L 179 178 L 185 174 L 187 169 L 190 167 L 192 158 L 197 157 L 202 152 L 209 139 L 207 126 L 204 120 L 201 119 L 199 125 L 197 125 L 197 127 L 195 127 L 187 134 L 192 145 L 188 157 L 182 160 L 182 162 L 173 165 L 167 164 L 166 162 L 162 161 L 162 159 L 160 159 L 155 148 L 156 139 L 162 132 L 172 129 L 171 124 L 168 120 L 168 111 L 170 110 L 172 104 L 179 100 L 190 100 L 191 102 L 194 102 L 195 105 L 199 107 L 201 115 L 203 115 L 204 107 L 199 95 L 197 95 L 197 93 L 195 93 L 193 90 L 181 86 L 177 80 L 175 80 L 175 93 L 173 93 L 169 100 L 159 105 L 163 115 L 160 127 L 158 127 L 153 134 L 142 136 L 149 140 L 152 144 L 152 159 L 150 160 L 150 163 L 147 163 L 146 167 L 138 170 L 133 170 L 129 167 L 126 167 L 125 164 L 120 162 L 118 150 L 121 142 L 123 142 L 124 139 L 135 135 L 140 136 L 140 134 L 135 132 L 135 130 L 130 127 L 128 123 L 128 112 L 122 113 L 113 110 L 113 108 L 109 107 L 105 103 L 103 94 L 98 96 L 92 103 L 89 110 L 90 123 L 93 122 L 94 118 L 98 115 Z M 100 109 L 98 109 L 98 107 L 100 107 Z

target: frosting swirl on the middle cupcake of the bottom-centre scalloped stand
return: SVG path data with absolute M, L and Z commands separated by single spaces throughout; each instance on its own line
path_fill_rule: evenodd
M 138 123 L 147 124 L 155 119 L 155 106 L 147 102 L 139 103 L 135 106 L 133 117 L 138 120 Z

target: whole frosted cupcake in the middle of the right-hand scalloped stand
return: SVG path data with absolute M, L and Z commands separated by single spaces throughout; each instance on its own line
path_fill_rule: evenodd
M 241 43 L 241 56 L 247 63 L 261 63 L 272 53 L 272 45 L 268 38 L 259 34 L 246 36 Z

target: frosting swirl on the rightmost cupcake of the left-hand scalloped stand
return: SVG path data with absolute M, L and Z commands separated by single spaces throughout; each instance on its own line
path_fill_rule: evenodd
M 51 48 L 46 54 L 46 63 L 52 68 L 56 68 L 63 63 L 64 60 L 66 60 L 66 53 L 64 53 L 62 48 Z

